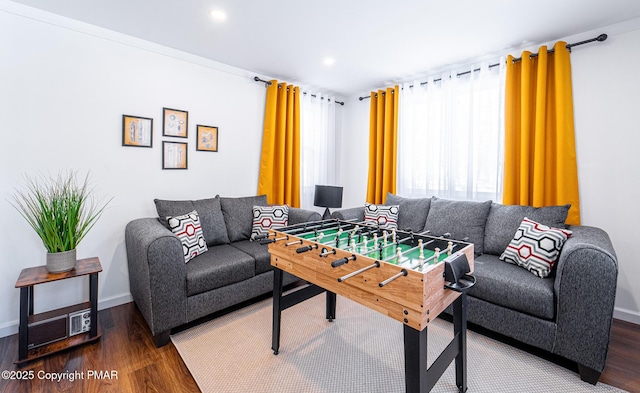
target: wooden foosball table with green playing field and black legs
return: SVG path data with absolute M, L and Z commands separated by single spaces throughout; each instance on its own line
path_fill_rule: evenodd
M 473 244 L 447 234 L 385 230 L 364 222 L 324 220 L 270 230 L 274 267 L 272 349 L 280 348 L 282 311 L 326 292 L 326 318 L 336 295 L 404 326 L 406 392 L 428 392 L 455 360 L 456 385 L 467 390 L 466 291 L 473 286 Z M 283 272 L 309 283 L 283 295 Z M 453 305 L 454 337 L 427 367 L 427 327 Z

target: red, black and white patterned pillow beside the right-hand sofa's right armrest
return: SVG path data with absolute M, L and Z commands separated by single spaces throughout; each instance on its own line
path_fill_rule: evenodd
M 547 277 L 571 234 L 567 229 L 551 228 L 525 217 L 500 259 Z

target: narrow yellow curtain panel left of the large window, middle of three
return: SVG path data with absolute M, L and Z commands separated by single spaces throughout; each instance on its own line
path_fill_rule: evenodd
M 371 92 L 367 202 L 384 203 L 396 192 L 398 167 L 398 86 Z

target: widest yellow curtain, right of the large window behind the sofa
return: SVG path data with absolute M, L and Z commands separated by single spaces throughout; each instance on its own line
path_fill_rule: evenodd
M 507 59 L 504 204 L 571 204 L 580 224 L 571 61 L 565 42 Z

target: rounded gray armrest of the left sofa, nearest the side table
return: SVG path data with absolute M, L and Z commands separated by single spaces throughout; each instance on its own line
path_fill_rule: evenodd
M 157 218 L 125 228 L 129 287 L 154 336 L 187 321 L 186 267 L 180 240 Z

